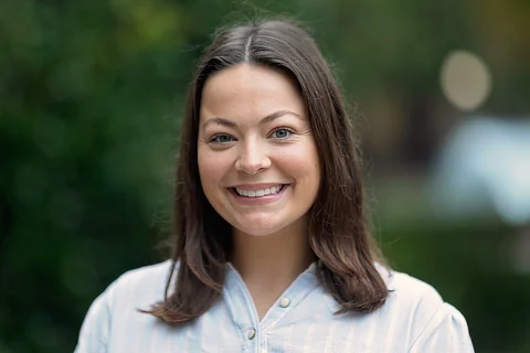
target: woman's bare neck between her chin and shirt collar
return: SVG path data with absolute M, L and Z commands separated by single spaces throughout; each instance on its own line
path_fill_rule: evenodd
M 232 261 L 251 293 L 279 296 L 316 259 L 306 226 L 294 225 L 266 236 L 234 229 L 233 238 Z

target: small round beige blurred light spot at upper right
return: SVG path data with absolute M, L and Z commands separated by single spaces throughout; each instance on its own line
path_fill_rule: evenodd
M 469 111 L 480 107 L 488 98 L 491 75 L 484 60 L 467 51 L 455 51 L 442 65 L 441 84 L 451 104 Z

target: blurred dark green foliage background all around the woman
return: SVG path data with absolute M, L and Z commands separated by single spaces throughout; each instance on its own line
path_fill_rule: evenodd
M 528 224 L 495 212 L 438 217 L 425 192 L 463 120 L 528 120 L 526 0 L 2 0 L 0 352 L 72 352 L 95 297 L 165 258 L 195 60 L 219 25 L 256 14 L 306 23 L 333 66 L 358 113 L 390 264 L 464 313 L 477 352 L 530 352 L 530 270 L 517 265 Z M 458 50 L 491 78 L 466 109 L 442 84 Z

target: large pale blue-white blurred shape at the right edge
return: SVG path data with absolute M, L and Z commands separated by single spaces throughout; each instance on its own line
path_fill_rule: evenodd
M 433 181 L 438 214 L 495 211 L 509 224 L 529 224 L 530 120 L 464 120 L 442 149 Z

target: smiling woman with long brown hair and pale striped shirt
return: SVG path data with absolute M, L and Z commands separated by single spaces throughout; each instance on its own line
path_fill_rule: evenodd
M 76 352 L 473 352 L 455 308 L 381 265 L 352 132 L 305 31 L 221 31 L 189 92 L 172 258 L 110 285 Z

